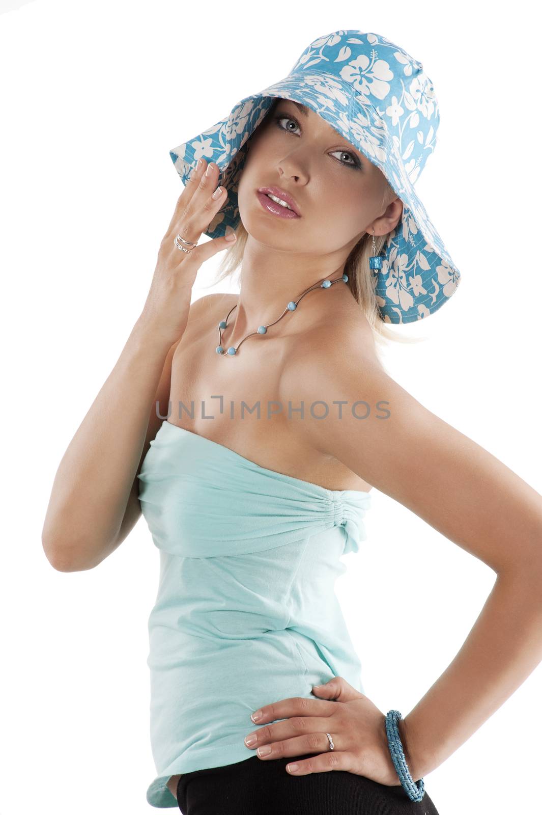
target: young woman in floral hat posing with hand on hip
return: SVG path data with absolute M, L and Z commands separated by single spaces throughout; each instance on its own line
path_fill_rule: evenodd
M 460 280 L 413 190 L 438 121 L 422 64 L 342 31 L 171 153 L 186 186 L 43 532 L 63 571 L 97 566 L 141 513 L 160 549 L 155 807 L 436 813 L 423 776 L 535 667 L 540 496 L 397 385 L 377 350 L 385 323 L 426 319 Z M 239 293 L 190 304 L 199 267 L 227 247 Z M 333 590 L 373 487 L 498 575 L 404 719 L 363 693 Z

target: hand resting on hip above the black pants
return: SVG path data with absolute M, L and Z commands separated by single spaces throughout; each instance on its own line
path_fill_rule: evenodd
M 270 747 L 266 756 L 257 753 L 264 761 L 321 751 L 318 756 L 292 762 L 297 764 L 296 770 L 291 771 L 288 764 L 286 769 L 291 775 L 342 769 L 385 786 L 400 786 L 382 711 L 342 676 L 334 676 L 326 685 L 315 686 L 313 694 L 318 698 L 292 697 L 260 708 L 263 715 L 255 724 L 264 726 L 249 734 L 256 737 L 256 742 L 247 747 L 250 750 Z M 277 719 L 284 721 L 266 724 Z M 330 751 L 326 733 L 333 739 L 333 751 Z M 403 747 L 409 764 L 406 747 Z

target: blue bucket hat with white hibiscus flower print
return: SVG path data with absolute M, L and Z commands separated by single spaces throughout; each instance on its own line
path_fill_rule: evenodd
M 439 107 L 422 63 L 380 34 L 347 30 L 318 37 L 284 79 L 242 99 L 216 125 L 169 152 L 185 184 L 199 158 L 218 166 L 228 200 L 205 234 L 217 238 L 238 227 L 247 139 L 275 97 L 321 116 L 382 170 L 403 202 L 400 221 L 380 253 L 382 266 L 370 272 L 382 320 L 412 323 L 437 311 L 461 275 L 414 183 L 435 148 Z

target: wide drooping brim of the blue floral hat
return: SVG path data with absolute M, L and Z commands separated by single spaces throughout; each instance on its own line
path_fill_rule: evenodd
M 321 116 L 382 171 L 403 202 L 400 221 L 382 249 L 382 269 L 371 270 L 382 320 L 411 323 L 437 311 L 457 290 L 461 273 L 414 189 L 417 166 L 413 163 L 412 167 L 407 165 L 408 171 L 405 169 L 399 145 L 390 137 L 379 112 L 372 105 L 361 104 L 363 100 L 352 93 L 352 86 L 333 74 L 291 74 L 242 99 L 228 117 L 170 150 L 184 184 L 199 158 L 215 162 L 220 170 L 219 183 L 228 191 L 228 199 L 205 234 L 216 238 L 238 227 L 238 179 L 245 146 L 275 97 L 304 104 Z

